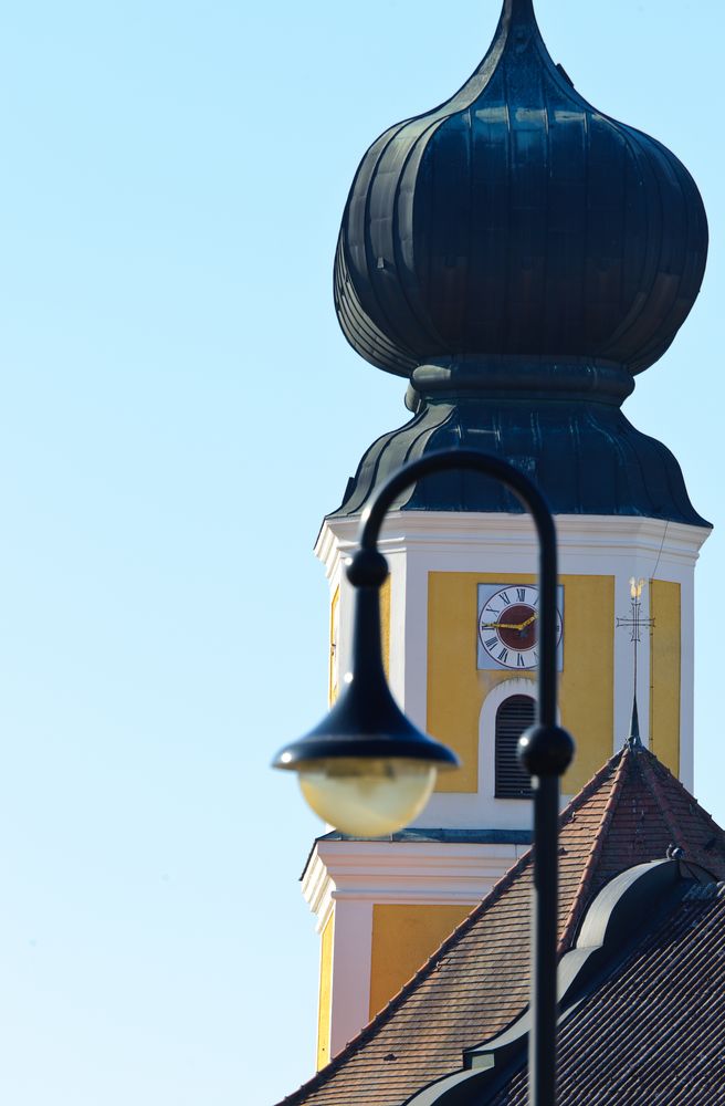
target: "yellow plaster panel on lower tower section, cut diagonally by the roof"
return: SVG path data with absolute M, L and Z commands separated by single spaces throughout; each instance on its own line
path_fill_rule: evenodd
M 472 906 L 372 907 L 370 1018 L 397 994 L 425 960 L 470 914 Z

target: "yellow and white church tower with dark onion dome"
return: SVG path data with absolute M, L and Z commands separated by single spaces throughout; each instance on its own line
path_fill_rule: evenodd
M 343 216 L 335 303 L 354 348 L 408 380 L 411 417 L 370 446 L 319 533 L 330 699 L 350 646 L 342 570 L 374 491 L 430 450 L 481 449 L 526 472 L 556 515 L 560 711 L 577 742 L 565 796 L 628 734 L 633 691 L 643 743 L 692 787 L 693 577 L 710 526 L 675 458 L 621 406 L 690 312 L 706 248 L 687 170 L 582 98 L 530 0 L 505 0 L 451 100 L 372 144 Z M 438 476 L 395 504 L 380 549 L 390 685 L 462 768 L 404 832 L 333 832 L 313 847 L 303 889 L 322 935 L 321 1066 L 530 841 L 514 754 L 535 695 L 528 518 L 498 486 Z M 617 629 L 631 577 L 653 624 L 637 668 Z

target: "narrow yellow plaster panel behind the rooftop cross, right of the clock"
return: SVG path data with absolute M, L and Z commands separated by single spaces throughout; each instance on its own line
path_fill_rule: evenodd
M 680 775 L 680 584 L 650 581 L 650 748 Z

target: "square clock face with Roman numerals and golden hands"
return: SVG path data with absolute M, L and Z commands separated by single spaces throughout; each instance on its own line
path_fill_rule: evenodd
M 538 597 L 538 587 L 533 584 L 479 585 L 479 668 L 514 668 L 519 671 L 536 668 Z M 558 647 L 561 641 L 561 615 L 558 609 L 556 641 Z

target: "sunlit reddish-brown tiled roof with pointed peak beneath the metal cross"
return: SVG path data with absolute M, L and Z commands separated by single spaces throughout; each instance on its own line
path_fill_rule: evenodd
M 571 947 L 605 883 L 663 857 L 673 844 L 725 879 L 725 833 L 655 757 L 626 747 L 561 815 L 561 951 Z M 460 1068 L 463 1050 L 501 1032 L 528 1002 L 529 902 L 530 852 L 285 1106 L 401 1106 L 424 1084 Z

